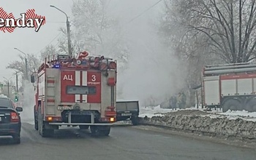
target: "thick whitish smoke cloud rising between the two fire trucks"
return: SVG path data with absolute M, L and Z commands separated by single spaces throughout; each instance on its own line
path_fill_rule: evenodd
M 130 50 L 127 70 L 118 72 L 117 87 L 121 95 L 117 97 L 139 100 L 140 105 L 158 105 L 167 100 L 184 87 L 186 75 L 186 65 L 162 45 L 157 34 L 161 4 L 127 23 L 154 3 L 156 1 L 152 0 L 119 1 L 118 11 L 113 11 L 123 23 L 124 38 Z

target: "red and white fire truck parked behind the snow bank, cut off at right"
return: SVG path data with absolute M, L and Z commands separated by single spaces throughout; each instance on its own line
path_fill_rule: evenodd
M 202 80 L 204 106 L 256 111 L 256 64 L 207 65 Z

